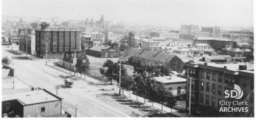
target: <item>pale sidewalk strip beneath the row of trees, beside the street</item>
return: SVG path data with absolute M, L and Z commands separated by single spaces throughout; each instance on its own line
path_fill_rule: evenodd
M 127 92 L 126 90 L 123 91 L 123 95 L 125 95 L 127 98 L 129 98 L 129 92 Z M 132 91 L 130 91 L 130 98 L 129 99 L 136 101 L 137 96 L 132 94 Z M 141 103 L 144 103 L 144 98 L 138 96 L 138 101 L 141 102 Z M 152 102 L 150 100 L 146 99 L 146 103 L 144 105 L 152 107 Z M 162 104 L 154 102 L 154 107 L 161 110 Z M 163 105 L 163 111 L 171 113 L 171 109 L 169 107 L 166 107 L 165 105 Z M 179 116 L 179 117 L 188 117 L 188 113 L 181 112 L 181 111 L 176 110 L 176 109 L 172 109 L 172 112 L 173 112 L 172 114 L 174 114 L 176 116 Z M 191 117 L 193 117 L 193 115 L 191 115 Z

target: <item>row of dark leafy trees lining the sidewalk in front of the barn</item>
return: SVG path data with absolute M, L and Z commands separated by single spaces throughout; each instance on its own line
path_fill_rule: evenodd
M 119 66 L 119 63 L 113 63 L 108 59 L 103 64 L 103 67 L 100 68 L 100 73 L 106 76 L 112 84 L 113 80 L 119 81 Z M 125 67 L 121 65 L 121 87 L 129 91 L 129 94 L 130 90 L 132 90 L 137 96 L 142 96 L 144 98 L 144 103 L 146 99 L 150 99 L 152 101 L 152 106 L 154 106 L 154 102 L 160 102 L 162 103 L 162 106 L 163 103 L 166 103 L 166 106 L 172 109 L 179 98 L 167 97 L 163 83 L 157 82 L 148 74 L 153 73 L 154 68 L 152 71 L 145 71 L 145 69 L 146 67 L 138 66 L 135 69 L 136 73 L 128 75 Z

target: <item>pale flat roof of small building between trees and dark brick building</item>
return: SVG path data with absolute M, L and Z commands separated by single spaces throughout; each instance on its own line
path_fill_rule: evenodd
M 170 78 L 170 79 L 169 79 Z M 181 78 L 178 76 L 161 76 L 161 77 L 154 77 L 156 81 L 162 82 L 162 83 L 175 83 L 175 82 L 186 82 L 187 80 L 185 78 Z

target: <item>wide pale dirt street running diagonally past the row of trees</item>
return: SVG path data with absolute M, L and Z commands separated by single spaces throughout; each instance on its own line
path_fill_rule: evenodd
M 14 48 L 15 49 L 15 48 Z M 75 116 L 75 105 L 77 105 L 78 117 L 126 117 L 132 112 L 143 114 L 143 111 L 133 109 L 127 105 L 122 105 L 109 97 L 96 97 L 97 94 L 118 93 L 116 85 L 109 85 L 103 82 L 89 83 L 77 79 L 74 81 L 73 88 L 63 86 L 64 76 L 67 73 L 58 71 L 52 67 L 46 66 L 45 59 L 26 59 L 26 54 L 10 53 L 11 47 L 2 46 L 2 56 L 8 56 L 12 59 L 11 67 L 15 69 L 15 77 L 28 86 L 41 87 L 56 94 L 54 86 L 59 85 L 58 96 L 63 98 L 62 110 L 65 110 Z M 53 65 L 51 61 L 48 65 Z

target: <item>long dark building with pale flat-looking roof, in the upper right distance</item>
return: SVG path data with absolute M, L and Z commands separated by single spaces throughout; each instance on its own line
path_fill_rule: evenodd
M 222 48 L 230 48 L 233 46 L 233 41 L 226 38 L 198 37 L 193 39 L 193 45 L 198 43 L 208 44 L 210 48 L 221 50 Z

